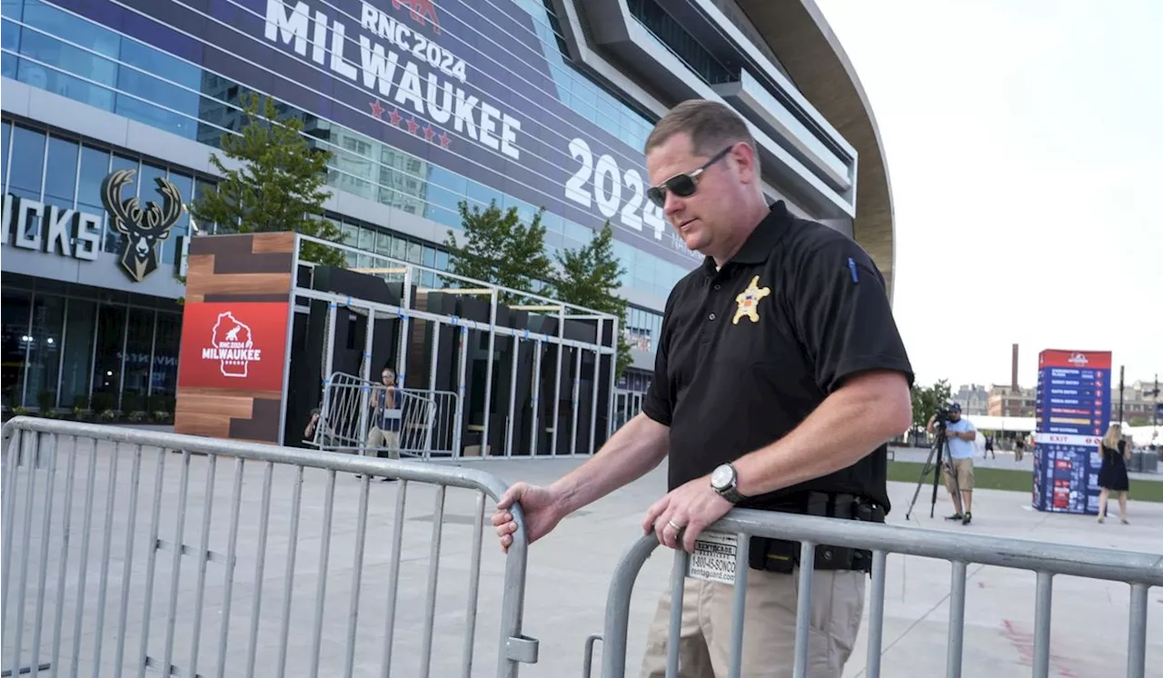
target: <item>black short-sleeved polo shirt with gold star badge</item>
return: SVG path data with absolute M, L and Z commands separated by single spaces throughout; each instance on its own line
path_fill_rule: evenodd
M 779 440 L 868 370 L 913 383 L 884 278 L 851 238 L 775 204 L 721 271 L 707 257 L 666 300 L 642 411 L 670 427 L 670 488 Z M 887 511 L 886 452 L 741 506 L 778 508 L 815 490 Z

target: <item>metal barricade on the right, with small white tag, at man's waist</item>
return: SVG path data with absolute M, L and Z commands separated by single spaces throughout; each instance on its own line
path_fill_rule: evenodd
M 735 584 L 732 607 L 732 657 L 729 676 L 740 676 L 744 625 L 744 598 L 748 578 L 749 536 L 800 542 L 797 579 L 795 645 L 791 661 L 793 676 L 804 678 L 808 657 L 813 564 L 816 547 L 829 544 L 872 551 L 868 664 L 864 675 L 879 678 L 884 631 L 885 571 L 889 554 L 948 561 L 952 566 L 949 594 L 949 635 L 946 675 L 959 678 L 965 621 L 965 581 L 969 564 L 1028 570 L 1036 574 L 1035 628 L 1032 666 L 1035 678 L 1050 676 L 1050 608 L 1056 574 L 1118 581 L 1129 585 L 1130 612 L 1127 645 L 1128 678 L 1143 678 L 1147 661 L 1148 592 L 1163 585 L 1163 557 L 1154 554 L 1120 551 L 1093 547 L 1046 543 L 1012 537 L 996 537 L 890 524 L 793 515 L 764 511 L 735 509 L 708 528 L 723 537 L 734 537 Z M 650 554 L 658 547 L 655 535 L 638 540 L 614 570 L 606 601 L 605 629 L 585 643 L 583 675 L 588 677 L 595 641 L 602 641 L 602 678 L 626 676 L 626 650 L 630 594 L 635 579 Z M 671 571 L 671 618 L 668 640 L 666 676 L 678 675 L 678 637 L 682 620 L 684 580 L 691 556 L 675 551 Z M 729 562 L 729 561 L 728 561 Z M 1111 666 L 1110 669 L 1113 669 Z

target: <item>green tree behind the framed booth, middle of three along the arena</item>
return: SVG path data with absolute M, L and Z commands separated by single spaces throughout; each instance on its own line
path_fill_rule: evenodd
M 473 278 L 509 290 L 536 292 L 549 283 L 551 263 L 545 256 L 545 227 L 541 224 L 544 208 L 525 226 L 516 207 L 501 212 L 493 200 L 480 209 L 462 200 L 461 222 L 465 242 L 462 244 L 450 230 L 444 240 L 448 248 L 449 272 Z M 520 294 L 501 293 L 501 304 L 519 304 Z

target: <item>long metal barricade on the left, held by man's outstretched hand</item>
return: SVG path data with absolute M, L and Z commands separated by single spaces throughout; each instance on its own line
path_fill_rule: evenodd
M 513 678 L 537 661 L 525 531 L 481 549 L 506 488 L 490 473 L 31 417 L 0 452 L 7 675 Z

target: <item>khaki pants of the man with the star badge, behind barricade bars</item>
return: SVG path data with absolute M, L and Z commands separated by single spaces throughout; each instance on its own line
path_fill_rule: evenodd
M 812 573 L 812 615 L 808 631 L 807 677 L 840 678 L 852 651 L 864 613 L 868 574 L 816 570 Z M 795 608 L 799 570 L 777 574 L 748 570 L 743 618 L 744 678 L 790 678 L 794 663 Z M 726 678 L 730 668 L 734 587 L 686 579 L 679 629 L 679 678 Z M 670 628 L 670 590 L 647 641 L 643 678 L 666 675 Z

